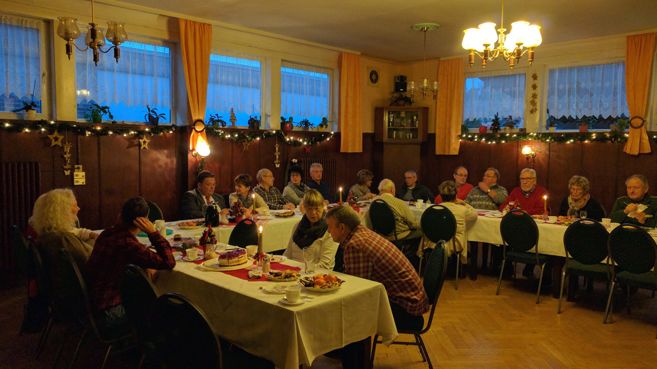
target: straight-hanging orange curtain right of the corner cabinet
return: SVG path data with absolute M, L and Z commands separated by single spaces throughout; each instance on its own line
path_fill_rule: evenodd
M 440 60 L 436 104 L 436 155 L 458 155 L 463 124 L 463 58 Z

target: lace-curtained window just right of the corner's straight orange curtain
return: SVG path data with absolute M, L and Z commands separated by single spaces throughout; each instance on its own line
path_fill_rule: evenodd
M 472 77 L 465 79 L 463 123 L 468 128 L 490 125 L 495 114 L 517 119 L 517 128 L 524 127 L 525 74 Z

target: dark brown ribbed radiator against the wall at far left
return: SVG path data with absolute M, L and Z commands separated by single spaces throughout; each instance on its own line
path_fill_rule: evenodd
M 41 194 L 39 162 L 5 162 L 0 166 L 0 270 L 16 269 L 16 260 L 9 243 L 9 228 L 28 227 L 32 207 Z

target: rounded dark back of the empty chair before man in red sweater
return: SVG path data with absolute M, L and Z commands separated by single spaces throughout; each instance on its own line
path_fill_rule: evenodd
M 499 223 L 499 232 L 511 250 L 529 251 L 538 244 L 536 222 L 522 210 L 509 211 Z

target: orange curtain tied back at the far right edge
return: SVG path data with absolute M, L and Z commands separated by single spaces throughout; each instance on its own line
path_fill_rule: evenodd
M 643 35 L 627 36 L 626 42 L 625 93 L 627 94 L 629 117 L 631 119 L 638 116 L 645 119 L 655 34 L 644 33 Z M 631 125 L 638 124 L 640 124 L 639 119 L 631 119 L 629 138 L 623 149 L 630 155 L 650 152 L 650 141 L 648 141 L 646 128 L 644 126 L 641 128 L 631 127 Z

